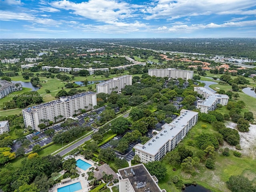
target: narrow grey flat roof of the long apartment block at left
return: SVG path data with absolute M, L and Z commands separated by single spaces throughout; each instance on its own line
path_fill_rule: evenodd
M 65 98 L 66 101 L 61 101 L 59 99 L 58 100 L 53 100 L 53 101 L 50 101 L 48 103 L 43 103 L 43 104 L 40 104 L 40 105 L 36 105 L 36 106 L 32 106 L 32 107 L 29 107 L 29 108 L 26 108 L 26 109 L 22 109 L 22 111 L 26 111 L 28 113 L 31 113 L 31 112 L 34 112 L 34 111 L 40 109 L 40 108 L 48 107 L 48 106 L 51 106 L 51 105 L 56 105 L 56 104 L 59 104 L 59 103 L 62 103 L 62 102 L 67 102 L 69 100 L 72 100 L 72 99 L 75 99 L 75 98 L 78 98 L 78 97 L 82 97 L 82 96 L 85 96 L 85 95 L 89 95 L 89 94 L 96 94 L 96 93 L 92 92 L 92 91 L 87 91 L 87 92 L 76 94 L 76 95 L 73 95 L 73 96 L 60 97 L 62 99 Z

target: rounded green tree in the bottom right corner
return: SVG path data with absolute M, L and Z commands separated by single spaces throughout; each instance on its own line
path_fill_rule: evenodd
M 230 176 L 226 182 L 228 189 L 232 192 L 255 192 L 256 187 L 252 185 L 252 182 L 248 178 L 238 175 Z

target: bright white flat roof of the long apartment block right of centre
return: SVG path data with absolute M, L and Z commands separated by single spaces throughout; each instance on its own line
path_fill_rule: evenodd
M 144 145 L 138 144 L 135 149 L 144 151 L 148 154 L 155 155 L 158 150 L 170 139 L 174 138 L 188 124 L 188 121 L 198 112 L 186 110 L 171 123 L 166 123 L 162 126 L 162 130 L 151 138 Z

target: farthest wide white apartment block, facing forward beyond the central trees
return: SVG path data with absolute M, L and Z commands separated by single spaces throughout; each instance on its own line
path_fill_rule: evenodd
M 181 70 L 175 68 L 167 68 L 167 69 L 149 69 L 148 75 L 156 76 L 156 77 L 168 77 L 168 78 L 182 78 L 182 79 L 192 79 L 193 71 L 189 70 Z

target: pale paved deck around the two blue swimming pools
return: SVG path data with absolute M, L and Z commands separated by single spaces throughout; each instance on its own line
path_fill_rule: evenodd
M 86 160 L 82 155 L 75 156 L 74 158 L 76 160 L 81 159 L 84 162 L 87 162 L 88 164 L 91 164 L 92 166 L 94 166 L 94 163 L 95 163 L 92 160 Z M 86 173 L 89 171 L 89 168 L 87 170 L 83 170 L 79 167 L 76 167 L 76 169 L 78 170 L 77 173 L 79 174 L 78 178 L 71 179 L 69 182 L 65 182 L 64 184 L 62 184 L 62 183 L 54 184 L 54 186 L 52 186 L 52 188 L 50 188 L 49 192 L 58 192 L 58 188 L 68 186 L 70 184 L 77 183 L 77 182 L 80 182 L 80 184 L 82 186 L 82 189 L 77 190 L 76 192 L 88 192 L 90 190 L 90 187 L 89 187 L 90 184 L 87 181 L 87 174 Z M 62 170 L 60 173 L 64 174 L 64 171 Z M 84 177 L 82 177 L 83 173 L 85 174 Z

